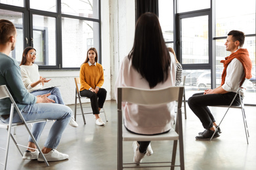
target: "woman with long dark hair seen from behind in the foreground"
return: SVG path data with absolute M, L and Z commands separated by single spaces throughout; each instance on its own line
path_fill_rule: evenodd
M 135 28 L 131 52 L 123 59 L 115 85 L 140 89 L 160 89 L 175 86 L 175 58 L 168 52 L 156 14 L 142 14 Z M 157 100 L 157 99 L 156 99 Z M 156 135 L 171 129 L 174 120 L 174 103 L 150 107 L 123 103 L 124 125 L 132 133 Z M 150 141 L 133 143 L 133 161 L 139 165 L 142 158 L 153 151 Z

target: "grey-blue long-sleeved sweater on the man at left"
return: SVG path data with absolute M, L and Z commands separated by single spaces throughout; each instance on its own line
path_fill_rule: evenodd
M 6 85 L 19 109 L 36 103 L 37 98 L 26 90 L 20 75 L 20 66 L 13 59 L 0 52 L 0 86 Z M 10 114 L 10 99 L 0 99 L 0 115 Z

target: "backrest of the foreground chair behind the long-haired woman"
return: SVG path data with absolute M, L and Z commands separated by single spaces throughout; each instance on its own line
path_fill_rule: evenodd
M 159 90 L 142 90 L 133 87 L 117 89 L 117 109 L 121 109 L 121 102 L 127 101 L 137 105 L 160 105 L 178 101 L 178 107 L 182 103 L 183 86 L 172 86 Z

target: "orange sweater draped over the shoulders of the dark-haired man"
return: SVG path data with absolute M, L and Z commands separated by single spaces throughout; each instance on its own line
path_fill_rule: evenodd
M 232 59 L 237 58 L 243 65 L 244 67 L 244 78 L 250 79 L 251 78 L 251 68 L 252 68 L 252 63 L 251 59 L 249 58 L 249 52 L 245 48 L 240 48 L 236 52 L 233 52 L 230 54 L 230 56 L 226 57 L 225 60 L 221 60 L 221 63 L 224 65 L 224 70 L 223 70 L 223 75 L 222 75 L 222 80 L 221 80 L 221 86 L 225 82 L 226 78 L 226 68 L 228 67 L 228 64 L 232 61 Z M 242 85 L 243 81 L 241 82 L 240 85 Z

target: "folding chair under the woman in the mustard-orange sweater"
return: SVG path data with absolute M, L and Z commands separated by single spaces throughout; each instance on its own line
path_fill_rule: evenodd
M 79 93 L 79 86 L 81 86 L 80 78 L 79 77 L 75 77 L 74 79 L 75 79 L 75 115 L 74 115 L 74 117 L 75 117 L 75 120 L 76 120 L 76 109 L 81 109 L 81 114 L 83 115 L 83 123 L 86 124 L 85 114 L 92 114 L 93 112 L 92 111 L 90 111 L 90 112 L 83 112 L 83 108 L 91 109 L 91 106 L 83 107 L 82 102 L 81 102 L 81 98 L 85 98 L 85 99 L 89 99 L 89 98 L 88 97 L 83 97 Z M 79 100 L 79 104 L 80 104 L 79 108 L 77 108 L 77 99 Z M 108 122 L 108 119 L 106 118 L 106 113 L 105 113 L 104 107 L 100 110 L 100 112 L 104 113 L 105 120 L 106 120 L 106 122 Z

